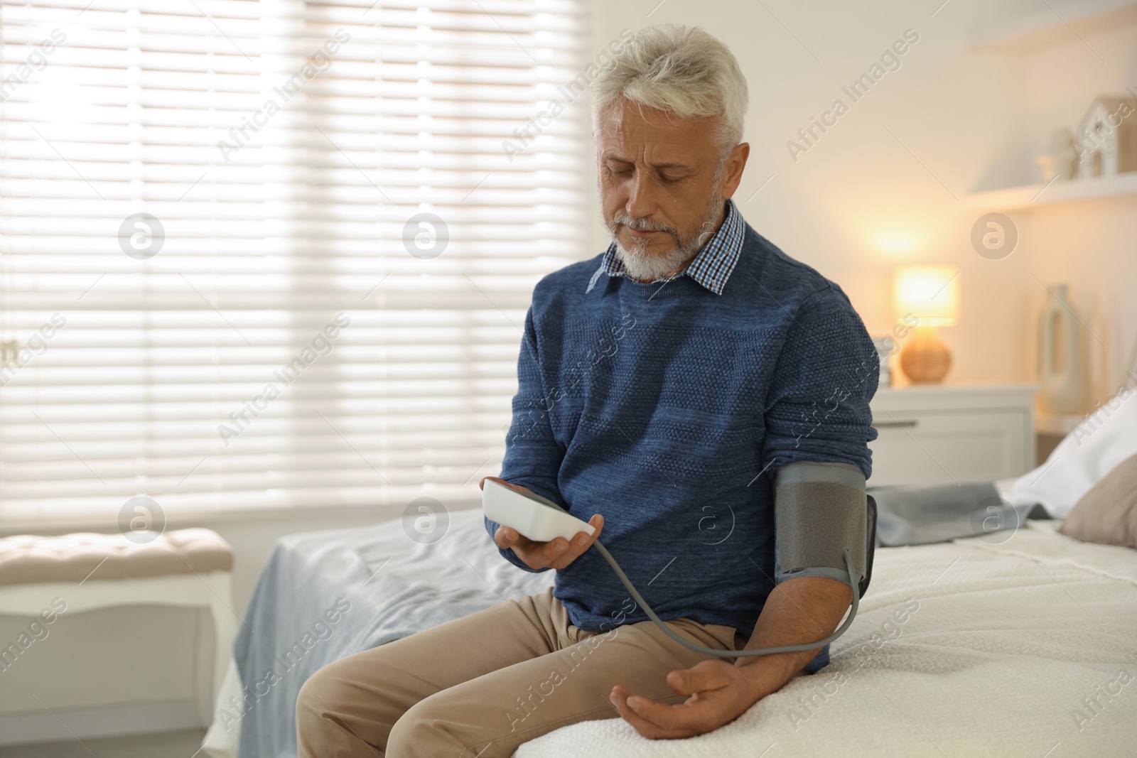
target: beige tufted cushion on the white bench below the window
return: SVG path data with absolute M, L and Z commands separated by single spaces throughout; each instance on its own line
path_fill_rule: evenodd
M 101 564 L 101 565 L 100 565 Z M 98 572 L 91 575 L 98 567 Z M 0 539 L 0 585 L 82 582 L 204 574 L 233 568 L 233 549 L 213 530 L 166 532 L 138 544 L 122 534 L 60 536 L 18 534 Z

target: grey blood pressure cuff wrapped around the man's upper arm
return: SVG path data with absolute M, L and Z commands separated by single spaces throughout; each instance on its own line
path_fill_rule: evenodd
M 864 473 L 856 466 L 813 461 L 782 466 L 774 478 L 774 582 L 825 576 L 849 584 L 844 557 L 848 550 L 858 574 L 852 583 L 863 595 L 872 566 L 869 539 L 875 538 L 871 515 Z

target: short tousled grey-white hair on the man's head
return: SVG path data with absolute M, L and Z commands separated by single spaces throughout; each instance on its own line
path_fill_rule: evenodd
M 698 26 L 645 26 L 592 80 L 591 92 L 594 126 L 623 99 L 680 118 L 717 116 L 723 156 L 742 141 L 746 77 L 730 49 Z

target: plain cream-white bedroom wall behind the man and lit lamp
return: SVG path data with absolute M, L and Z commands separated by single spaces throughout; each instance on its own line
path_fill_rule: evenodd
M 1068 281 L 1086 306 L 1087 323 L 1107 345 L 1095 353 L 1096 398 L 1104 399 L 1106 386 L 1115 383 L 1109 377 L 1118 373 L 1137 331 L 1134 199 L 1012 214 L 1020 226 L 1020 247 L 1010 258 L 990 261 L 970 245 L 978 214 L 964 208 L 963 198 L 977 189 L 1038 181 L 1031 155 L 1053 125 L 1073 126 L 1095 94 L 1137 84 L 1137 30 L 1088 36 L 1110 61 L 1102 64 L 1081 42 L 1027 57 L 968 49 L 972 30 L 997 22 L 996 14 L 1037 10 L 1032 0 L 1007 0 L 996 9 L 980 0 L 951 0 L 935 17 L 939 0 L 766 0 L 780 22 L 758 3 L 657 3 L 594 2 L 594 51 L 624 27 L 664 20 L 697 22 L 731 45 L 750 89 L 746 139 L 752 155 L 736 200 L 752 226 L 837 281 L 873 333 L 893 325 L 889 290 L 896 265 L 958 264 L 961 320 L 943 331 L 955 355 L 951 381 L 1032 380 L 1035 325 L 1046 295 L 1035 277 L 1047 284 Z M 843 97 L 841 86 L 907 28 L 915 30 L 920 41 L 902 58 L 902 67 L 886 74 L 795 163 L 786 142 L 796 139 L 811 116 Z M 771 175 L 765 189 L 749 199 Z M 592 249 L 600 252 L 607 234 L 598 213 L 594 217 L 588 233 Z M 234 545 L 234 607 L 242 611 L 277 536 L 397 515 L 308 513 L 202 525 Z M 60 708 L 173 703 L 136 725 L 141 727 L 192 719 L 191 620 L 185 611 L 160 609 L 65 616 L 42 647 L 30 651 L 34 655 L 2 674 L 0 740 L 17 734 L 14 714 L 39 711 L 33 693 Z M 0 641 L 14 639 L 22 626 L 18 619 L 0 617 Z M 74 726 L 81 713 L 67 713 L 74 719 L 69 725 L 82 735 L 83 727 Z M 83 723 L 91 730 L 98 726 Z M 118 722 L 103 718 L 101 724 Z M 48 728 L 59 733 L 47 720 L 25 720 L 19 728 L 25 735 Z

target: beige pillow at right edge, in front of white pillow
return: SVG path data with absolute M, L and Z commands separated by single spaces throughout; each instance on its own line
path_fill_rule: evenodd
M 1084 494 L 1059 532 L 1082 542 L 1137 549 L 1137 456 L 1122 460 Z

